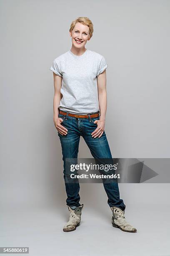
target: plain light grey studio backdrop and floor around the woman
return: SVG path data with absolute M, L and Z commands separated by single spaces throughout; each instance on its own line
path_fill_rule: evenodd
M 0 246 L 29 246 L 36 256 L 56 248 L 57 255 L 170 255 L 169 184 L 120 184 L 135 234 L 111 226 L 102 184 L 80 184 L 81 225 L 62 232 L 69 214 L 50 71 L 71 48 L 72 20 L 89 17 L 94 33 L 86 48 L 108 64 L 112 157 L 169 158 L 169 14 L 166 0 L 0 1 Z M 82 138 L 78 156 L 92 157 Z

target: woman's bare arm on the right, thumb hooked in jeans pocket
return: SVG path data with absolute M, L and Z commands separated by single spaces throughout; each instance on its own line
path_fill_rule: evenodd
M 100 120 L 95 120 L 97 128 L 92 132 L 92 137 L 101 137 L 105 129 L 105 115 L 107 109 L 107 92 L 106 92 L 106 70 L 97 77 L 98 99 L 100 108 Z

